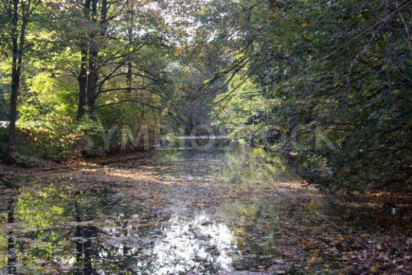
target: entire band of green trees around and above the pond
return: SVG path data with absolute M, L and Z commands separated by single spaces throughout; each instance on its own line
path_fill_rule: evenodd
M 296 155 L 319 187 L 410 188 L 411 9 L 389 0 L 1 1 L 0 117 L 11 121 L 2 157 L 76 155 L 85 133 L 115 124 L 190 133 L 214 121 Z

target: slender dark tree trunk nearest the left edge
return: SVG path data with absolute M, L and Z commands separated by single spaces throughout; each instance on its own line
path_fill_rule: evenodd
M 27 17 L 22 17 L 21 21 L 21 33 L 20 41 L 18 41 L 17 25 L 19 14 L 17 10 L 19 8 L 19 0 L 13 0 L 13 18 L 12 18 L 12 85 L 11 85 L 11 97 L 10 97 L 10 125 L 9 125 L 9 140 L 8 147 L 5 153 L 4 163 L 10 164 L 12 161 L 12 151 L 16 140 L 16 119 L 17 119 L 17 94 L 19 93 L 19 84 L 21 76 L 21 63 L 23 61 L 23 45 L 25 39 L 25 27 L 27 23 Z M 30 9 L 30 4 L 27 5 L 27 10 Z M 24 12 L 24 11 L 22 11 Z

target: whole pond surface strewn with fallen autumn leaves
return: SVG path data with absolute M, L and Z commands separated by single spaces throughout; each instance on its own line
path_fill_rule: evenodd
M 0 274 L 409 274 L 407 212 L 293 171 L 250 148 L 3 168 Z

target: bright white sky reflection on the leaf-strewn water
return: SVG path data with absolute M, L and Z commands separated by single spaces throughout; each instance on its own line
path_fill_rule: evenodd
M 155 245 L 157 256 L 150 274 L 216 274 L 231 270 L 231 230 L 199 214 L 187 221 L 172 217 L 165 238 Z

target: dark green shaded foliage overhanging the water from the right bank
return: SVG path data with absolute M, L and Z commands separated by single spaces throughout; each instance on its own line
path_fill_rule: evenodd
M 249 21 L 236 23 L 245 30 L 240 40 L 253 43 L 249 75 L 259 88 L 250 93 L 279 102 L 251 125 L 266 131 L 280 126 L 290 135 L 281 149 L 298 151 L 306 167 L 302 174 L 321 188 L 364 192 L 412 187 L 411 5 L 396 5 L 239 4 L 249 14 Z M 228 119 L 235 120 L 228 123 L 233 126 L 244 113 L 235 102 L 236 97 L 220 107 L 233 113 Z M 242 115 L 244 121 L 255 116 Z M 246 129 L 259 133 L 255 127 Z

